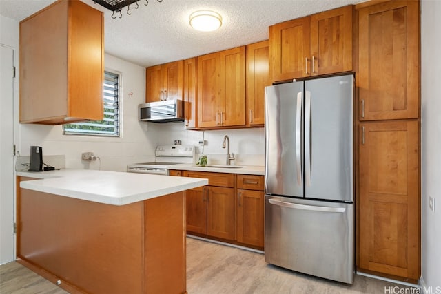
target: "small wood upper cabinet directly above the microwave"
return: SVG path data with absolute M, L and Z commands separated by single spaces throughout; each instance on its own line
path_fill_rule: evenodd
M 183 99 L 183 61 L 147 67 L 145 102 Z

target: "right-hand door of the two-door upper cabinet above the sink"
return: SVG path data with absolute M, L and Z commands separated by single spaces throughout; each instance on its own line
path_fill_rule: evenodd
M 245 46 L 220 52 L 220 125 L 245 125 Z

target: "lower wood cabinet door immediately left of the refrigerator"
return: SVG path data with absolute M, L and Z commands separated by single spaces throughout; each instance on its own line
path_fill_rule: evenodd
M 237 193 L 237 240 L 263 247 L 264 193 L 241 189 Z

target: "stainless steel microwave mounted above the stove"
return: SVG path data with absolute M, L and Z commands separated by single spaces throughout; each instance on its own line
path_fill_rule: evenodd
M 184 121 L 182 100 L 165 100 L 139 105 L 139 120 L 153 123 Z

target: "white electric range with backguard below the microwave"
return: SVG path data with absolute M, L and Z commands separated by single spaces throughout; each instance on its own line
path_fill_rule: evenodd
M 160 145 L 156 147 L 154 162 L 127 165 L 127 172 L 139 174 L 160 174 L 167 176 L 173 165 L 194 163 L 196 147 L 192 145 Z

